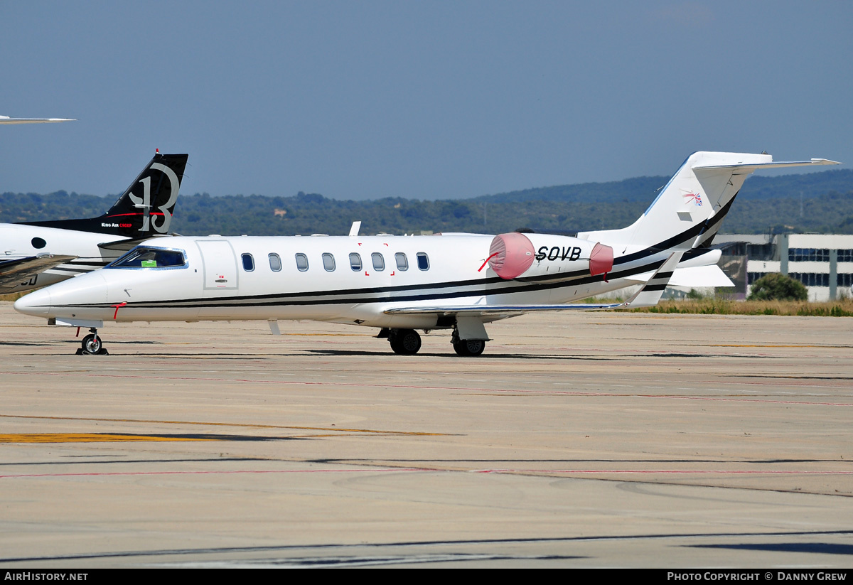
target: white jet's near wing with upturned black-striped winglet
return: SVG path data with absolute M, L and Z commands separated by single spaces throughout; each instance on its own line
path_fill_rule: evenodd
M 399 307 L 386 309 L 388 315 L 441 315 L 441 316 L 488 316 L 488 317 L 513 317 L 524 315 L 537 310 L 608 310 L 608 309 L 636 309 L 639 307 L 653 307 L 658 304 L 660 297 L 664 294 L 664 288 L 670 282 L 672 273 L 682 259 L 684 252 L 673 252 L 666 258 L 664 264 L 660 265 L 652 277 L 648 279 L 639 291 L 624 303 L 583 303 L 583 304 L 469 304 L 448 305 L 433 307 Z

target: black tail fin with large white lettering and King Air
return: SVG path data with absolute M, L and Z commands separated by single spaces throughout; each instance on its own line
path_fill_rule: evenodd
M 188 158 L 188 154 L 154 154 L 139 177 L 101 217 L 22 223 L 135 239 L 169 234 L 171 212 Z

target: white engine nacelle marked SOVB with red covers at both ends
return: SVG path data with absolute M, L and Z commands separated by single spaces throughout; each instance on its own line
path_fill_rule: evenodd
M 491 240 L 489 266 L 506 280 L 587 270 L 590 275 L 606 275 L 613 269 L 613 249 L 566 235 L 512 232 Z

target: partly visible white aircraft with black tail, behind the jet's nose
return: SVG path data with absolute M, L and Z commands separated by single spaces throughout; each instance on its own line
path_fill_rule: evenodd
M 33 120 L 62 121 L 0 118 L 0 124 Z M 186 165 L 186 154 L 154 154 L 101 217 L 0 223 L 0 294 L 44 287 L 103 268 L 140 241 L 168 234 Z

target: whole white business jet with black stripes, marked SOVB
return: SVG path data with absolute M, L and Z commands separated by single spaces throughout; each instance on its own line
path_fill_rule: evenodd
M 657 304 L 668 284 L 731 286 L 711 240 L 758 169 L 834 165 L 773 162 L 769 154 L 693 153 L 635 223 L 546 234 L 173 237 L 148 240 L 107 268 L 44 288 L 15 309 L 90 327 L 78 353 L 103 353 L 108 321 L 311 319 L 375 327 L 393 351 L 452 329 L 453 349 L 479 356 L 485 324 L 537 310 Z M 641 285 L 624 303 L 572 304 Z

